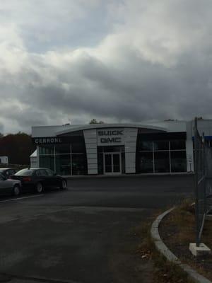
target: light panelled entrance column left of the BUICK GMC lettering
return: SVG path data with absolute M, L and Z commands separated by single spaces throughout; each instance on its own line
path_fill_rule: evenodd
M 86 129 L 83 131 L 83 134 L 86 143 L 88 175 L 98 174 L 96 129 Z

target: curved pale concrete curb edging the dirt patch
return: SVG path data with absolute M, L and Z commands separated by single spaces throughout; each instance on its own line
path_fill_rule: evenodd
M 208 280 L 206 277 L 200 275 L 198 272 L 196 272 L 195 270 L 192 269 L 192 267 L 189 267 L 189 265 L 185 265 L 183 264 L 179 258 L 177 258 L 168 248 L 167 246 L 165 246 L 165 243 L 163 243 L 162 239 L 160 238 L 160 234 L 159 234 L 159 226 L 160 226 L 160 222 L 163 220 L 163 218 L 169 214 L 170 212 L 172 212 L 172 210 L 174 210 L 175 207 L 172 207 L 171 209 L 167 210 L 166 212 L 163 212 L 163 214 L 160 214 L 155 221 L 153 221 L 153 224 L 151 226 L 151 237 L 153 238 L 153 241 L 155 243 L 155 247 L 156 249 L 159 251 L 159 253 L 162 253 L 165 258 L 170 261 L 175 263 L 176 265 L 178 265 L 179 267 L 182 268 L 182 270 L 184 270 L 185 272 L 187 272 L 187 274 L 189 275 L 189 277 L 194 280 L 194 282 L 196 283 L 212 283 L 210 280 Z

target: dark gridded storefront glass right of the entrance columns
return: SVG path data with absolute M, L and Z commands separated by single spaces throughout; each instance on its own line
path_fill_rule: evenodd
M 136 153 L 137 173 L 175 173 L 186 171 L 185 140 L 139 140 Z

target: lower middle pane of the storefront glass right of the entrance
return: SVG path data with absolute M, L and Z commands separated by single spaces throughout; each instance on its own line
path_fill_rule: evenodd
M 170 172 L 170 153 L 169 151 L 154 152 L 155 173 Z

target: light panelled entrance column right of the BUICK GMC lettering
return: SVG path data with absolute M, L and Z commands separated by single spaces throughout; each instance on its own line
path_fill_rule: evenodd
M 138 129 L 125 128 L 125 172 L 136 173 L 136 141 Z

